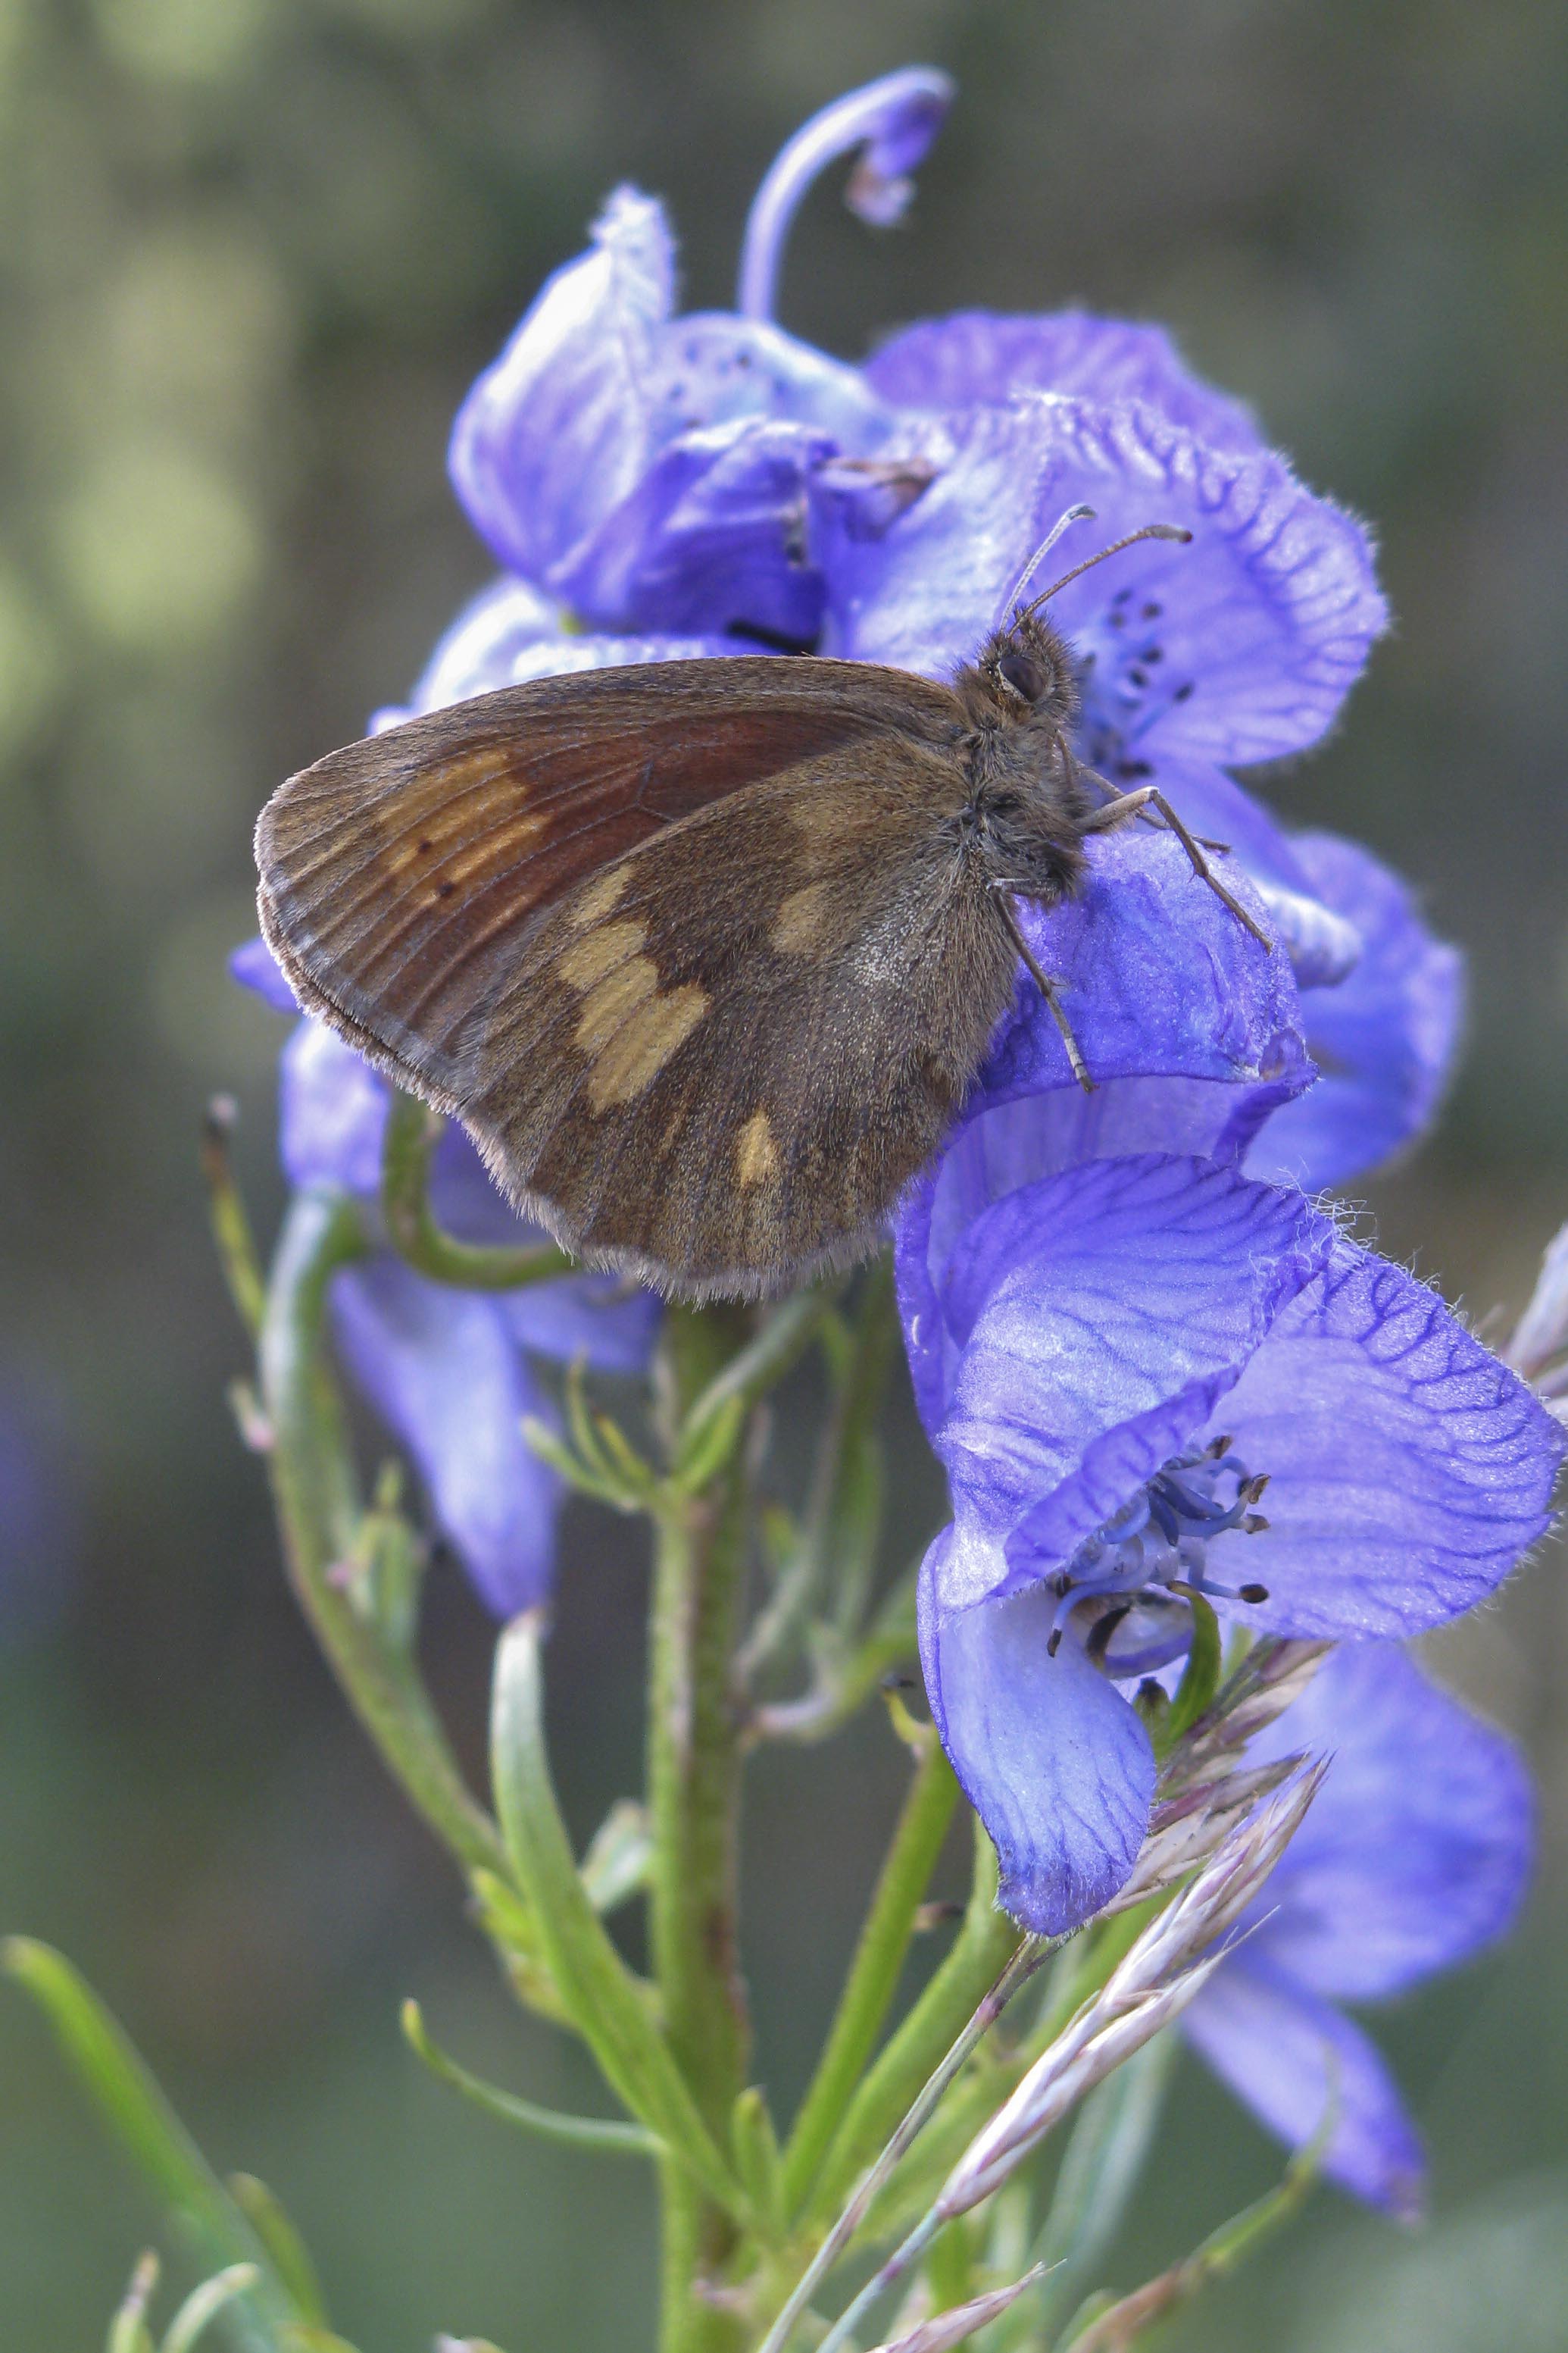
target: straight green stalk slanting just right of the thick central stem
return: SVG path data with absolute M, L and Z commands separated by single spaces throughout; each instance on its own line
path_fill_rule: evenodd
M 827 2047 L 785 2151 L 783 2184 L 785 2212 L 790 2214 L 811 2195 L 816 2169 L 844 2118 L 860 2068 L 875 2049 L 957 1800 L 959 1784 L 952 1777 L 952 1765 L 943 1755 L 936 1732 L 926 1727 L 914 1779 L 860 1929 Z

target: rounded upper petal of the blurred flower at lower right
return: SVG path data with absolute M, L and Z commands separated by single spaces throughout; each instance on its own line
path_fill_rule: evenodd
M 1469 1960 L 1514 1920 L 1535 1802 L 1502 1732 L 1396 1642 L 1342 1642 L 1248 1762 L 1307 1748 L 1328 1777 L 1269 1878 L 1251 1948 L 1314 1993 L 1366 2000 Z

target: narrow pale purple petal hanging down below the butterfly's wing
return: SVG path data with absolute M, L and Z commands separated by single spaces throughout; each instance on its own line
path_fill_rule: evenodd
M 522 1435 L 545 1405 L 498 1304 L 378 1257 L 336 1278 L 331 1315 L 487 1607 L 531 1609 L 550 1588 L 559 1480 Z

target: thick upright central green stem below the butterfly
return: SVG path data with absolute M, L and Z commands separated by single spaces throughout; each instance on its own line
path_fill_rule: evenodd
M 736 1320 L 672 1308 L 661 1388 L 668 1440 L 712 1398 L 733 1360 Z M 675 2061 L 722 2148 L 745 2087 L 750 2026 L 736 1958 L 741 1711 L 733 1654 L 745 1586 L 748 1480 L 741 1459 L 656 1522 L 649 1621 L 649 1946 Z M 729 2315 L 693 2297 L 736 2242 L 689 2172 L 663 2169 L 663 2353 L 733 2346 Z

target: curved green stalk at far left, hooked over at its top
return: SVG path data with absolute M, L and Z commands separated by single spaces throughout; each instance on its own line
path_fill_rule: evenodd
M 343 1407 L 320 1362 L 320 1334 L 331 1275 L 364 1249 L 348 1193 L 320 1186 L 289 1205 L 261 1322 L 268 1464 L 289 1581 L 350 1706 L 416 1812 L 465 1871 L 510 1878 L 501 1835 L 463 1786 L 425 1692 L 360 1617 L 336 1574 L 350 1558 L 360 1497 Z

